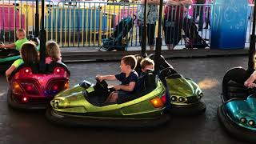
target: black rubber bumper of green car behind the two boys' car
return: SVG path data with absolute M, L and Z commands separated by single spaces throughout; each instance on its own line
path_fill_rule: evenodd
M 206 105 L 203 102 L 197 102 L 192 105 L 171 105 L 170 114 L 179 116 L 190 116 L 202 114 L 206 111 Z

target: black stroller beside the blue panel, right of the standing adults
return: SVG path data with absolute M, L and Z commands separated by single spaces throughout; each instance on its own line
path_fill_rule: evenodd
M 186 49 L 204 49 L 206 47 L 209 47 L 206 43 L 207 39 L 203 39 L 198 34 L 198 27 L 195 25 L 192 19 L 184 19 L 183 30 L 185 32 L 185 35 L 182 35 L 182 38 L 184 38 Z

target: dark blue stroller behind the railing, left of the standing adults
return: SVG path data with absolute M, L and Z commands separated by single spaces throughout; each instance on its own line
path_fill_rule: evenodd
M 134 19 L 130 17 L 123 18 L 122 21 L 119 22 L 117 26 L 115 26 L 114 34 L 112 34 L 110 38 L 102 39 L 103 45 L 99 48 L 99 50 L 127 50 L 128 43 L 130 42 L 130 37 L 128 34 L 134 26 L 135 20 L 135 15 Z

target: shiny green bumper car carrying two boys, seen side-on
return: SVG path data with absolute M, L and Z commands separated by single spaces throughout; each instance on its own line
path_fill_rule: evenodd
M 82 82 L 55 96 L 46 111 L 50 122 L 67 126 L 142 128 L 168 121 L 165 114 L 166 89 L 155 75 L 148 73 L 142 90 L 114 103 L 105 103 L 111 89 L 105 81 L 92 86 Z

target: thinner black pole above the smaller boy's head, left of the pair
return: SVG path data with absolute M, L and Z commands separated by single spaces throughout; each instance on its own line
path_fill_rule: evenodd
M 144 3 L 143 26 L 142 26 L 142 57 L 146 58 L 146 7 L 147 2 Z

